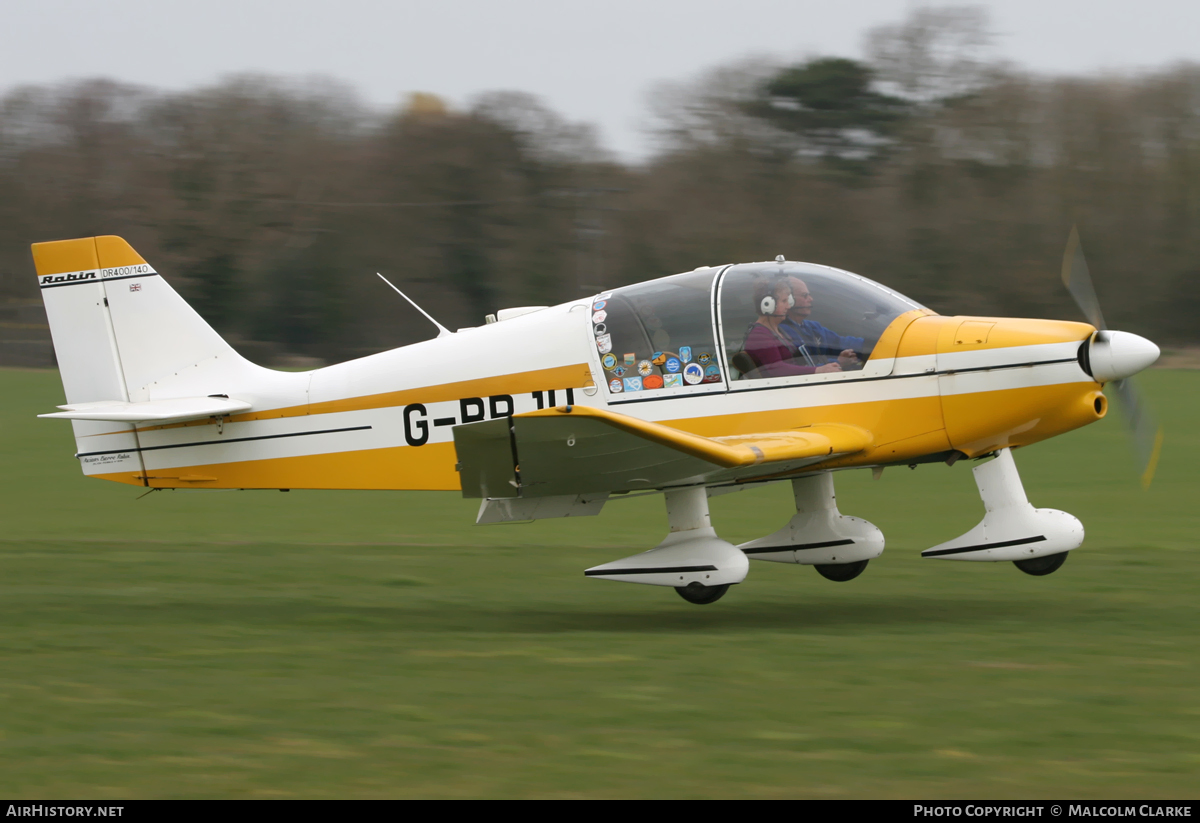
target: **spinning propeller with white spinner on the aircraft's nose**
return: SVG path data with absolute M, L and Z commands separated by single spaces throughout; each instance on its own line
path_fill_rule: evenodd
M 1093 378 L 1100 383 L 1111 382 L 1116 389 L 1141 470 L 1141 485 L 1148 488 L 1163 450 L 1163 428 L 1134 385 L 1133 376 L 1158 360 L 1158 347 L 1145 337 L 1127 331 L 1110 331 L 1105 325 L 1075 227 L 1070 229 L 1067 250 L 1062 256 L 1062 282 L 1088 323 L 1097 329 L 1082 354 L 1082 365 Z

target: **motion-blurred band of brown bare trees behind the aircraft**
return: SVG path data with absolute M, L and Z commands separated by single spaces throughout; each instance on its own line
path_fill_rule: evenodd
M 662 86 L 637 163 L 520 92 L 379 113 L 257 76 L 18 88 L 0 301 L 36 299 L 30 242 L 120 234 L 260 360 L 431 336 L 376 271 L 450 328 L 780 253 L 942 313 L 1081 319 L 1058 281 L 1078 223 L 1110 325 L 1200 342 L 1200 66 L 1042 77 L 988 41 L 980 11 L 924 8 L 863 60 Z

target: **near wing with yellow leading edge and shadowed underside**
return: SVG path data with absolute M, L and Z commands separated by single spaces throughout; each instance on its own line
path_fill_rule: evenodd
M 457 426 L 463 497 L 532 498 L 713 483 L 791 471 L 859 451 L 870 432 L 845 423 L 701 437 L 583 406 Z

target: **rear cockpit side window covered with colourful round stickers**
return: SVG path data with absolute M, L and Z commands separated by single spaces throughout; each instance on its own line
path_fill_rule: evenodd
M 592 331 L 610 395 L 686 392 L 720 383 L 713 340 L 715 269 L 596 295 Z

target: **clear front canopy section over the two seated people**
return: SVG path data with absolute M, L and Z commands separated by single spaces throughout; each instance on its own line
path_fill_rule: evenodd
M 737 380 L 857 371 L 919 304 L 839 269 L 755 263 L 725 272 L 721 334 Z

